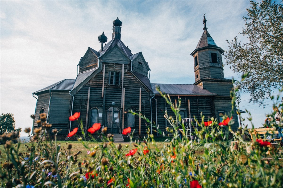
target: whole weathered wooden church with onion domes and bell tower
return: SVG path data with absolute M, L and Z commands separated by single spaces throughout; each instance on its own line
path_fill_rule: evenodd
M 168 125 L 164 111 L 173 112 L 156 91 L 158 85 L 162 92 L 170 94 L 173 102 L 177 103 L 178 96 L 181 97 L 182 118 L 195 116 L 200 120 L 202 112 L 206 119 L 216 117 L 222 121 L 222 116 L 231 110 L 230 90 L 233 85 L 231 79 L 224 78 L 221 55 L 224 51 L 208 33 L 205 17 L 203 23 L 203 34 L 191 53 L 194 84 L 151 83 L 149 64 L 143 54 L 133 54 L 121 41 L 122 22 L 117 18 L 113 21 L 112 40 L 106 43 L 104 32 L 98 37 L 101 49 L 87 49 L 78 63 L 76 79 L 64 79 L 33 93 L 33 96 L 38 96 L 34 96 L 37 99 L 35 116 L 45 112 L 52 129 L 62 129 L 58 133 L 62 139 L 78 127 L 77 122 L 68 120 L 74 112 L 81 113 L 85 129 L 93 123 L 101 123 L 108 127 L 108 133 L 121 134 L 124 128 L 132 127 L 135 134 L 145 134 L 145 120 L 125 113 L 133 110 L 141 112 L 166 132 Z M 232 128 L 237 129 L 237 115 L 233 117 L 235 124 Z M 37 120 L 35 118 L 33 128 L 38 126 Z

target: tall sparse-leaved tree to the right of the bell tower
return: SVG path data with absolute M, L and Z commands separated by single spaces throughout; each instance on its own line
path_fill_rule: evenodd
M 227 41 L 226 64 L 233 72 L 248 74 L 243 82 L 235 83 L 240 92 L 250 93 L 250 102 L 265 105 L 275 88 L 283 85 L 283 5 L 282 1 L 250 1 L 245 28 L 239 34 L 246 43 L 235 37 Z

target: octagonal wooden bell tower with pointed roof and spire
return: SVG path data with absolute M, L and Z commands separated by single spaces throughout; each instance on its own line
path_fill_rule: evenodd
M 194 57 L 195 82 L 203 78 L 224 78 L 222 48 L 218 47 L 207 31 L 206 19 L 203 15 L 203 33 L 196 49 L 191 53 Z

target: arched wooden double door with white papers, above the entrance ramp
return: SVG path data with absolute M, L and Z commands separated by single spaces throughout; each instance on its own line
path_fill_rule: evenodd
M 109 107 L 107 109 L 106 116 L 106 126 L 108 128 L 108 132 L 110 133 L 119 133 L 119 125 L 120 125 L 120 110 L 116 107 Z

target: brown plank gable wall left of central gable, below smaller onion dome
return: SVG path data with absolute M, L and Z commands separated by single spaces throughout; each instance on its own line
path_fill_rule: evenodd
M 79 73 L 98 67 L 98 58 L 93 54 L 90 49 L 88 49 L 79 65 Z

